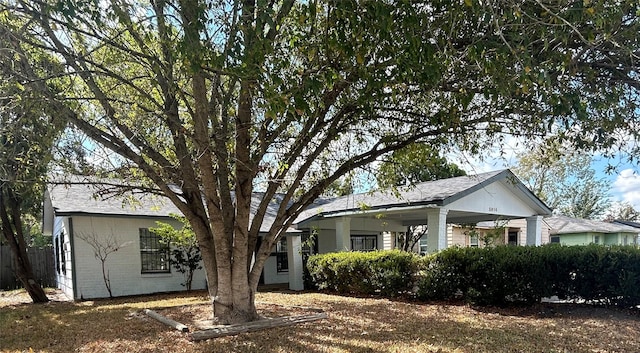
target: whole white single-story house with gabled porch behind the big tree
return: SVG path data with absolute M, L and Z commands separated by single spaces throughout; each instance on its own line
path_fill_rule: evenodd
M 171 268 L 167 248 L 149 231 L 156 221 L 174 222 L 169 214 L 178 214 L 177 208 L 166 198 L 140 190 L 107 199 L 94 197 L 98 190 L 86 184 L 51 185 L 45 194 L 43 229 L 53 235 L 58 287 L 74 299 L 108 296 L 100 262 L 84 240 L 94 235 L 121 245 L 106 261 L 114 296 L 182 290 L 183 277 Z M 254 197 L 257 204 L 261 194 Z M 272 204 L 269 215 L 275 214 L 278 200 Z M 307 254 L 392 249 L 394 235 L 410 225 L 428 225 L 420 247 L 429 252 L 452 245 L 450 224 L 496 220 L 518 219 L 523 225 L 510 226 L 505 241 L 515 237 L 518 244 L 540 245 L 545 240 L 542 218 L 549 214 L 551 210 L 509 170 L 420 183 L 398 193 L 322 199 L 304 211 L 276 244 L 262 282 L 303 289 Z M 269 215 L 262 232 L 271 226 Z M 316 235 L 314 246 L 303 246 L 311 234 Z M 198 271 L 193 288 L 205 287 L 204 272 Z

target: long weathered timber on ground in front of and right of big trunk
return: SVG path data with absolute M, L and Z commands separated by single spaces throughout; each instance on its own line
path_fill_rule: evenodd
M 273 319 L 252 321 L 245 324 L 219 326 L 215 328 L 193 332 L 191 334 L 191 340 L 202 341 L 210 338 L 233 336 L 241 333 L 260 331 L 260 330 L 274 328 L 274 327 L 293 326 L 293 325 L 297 325 L 305 322 L 326 319 L 327 317 L 328 317 L 327 314 L 320 313 L 320 314 L 278 317 Z

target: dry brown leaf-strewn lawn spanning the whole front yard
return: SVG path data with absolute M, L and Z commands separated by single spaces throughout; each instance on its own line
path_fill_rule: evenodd
M 264 316 L 329 319 L 190 342 L 141 314 L 194 327 L 211 319 L 204 293 L 45 305 L 0 300 L 0 350 L 23 352 L 638 352 L 637 313 L 577 305 L 486 309 L 321 293 L 259 293 Z

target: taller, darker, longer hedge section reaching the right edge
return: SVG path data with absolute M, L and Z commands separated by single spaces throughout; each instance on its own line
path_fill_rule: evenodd
M 479 305 L 543 297 L 640 304 L 640 250 L 629 246 L 450 248 L 427 260 L 417 297 Z

